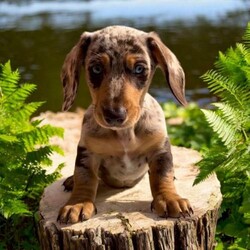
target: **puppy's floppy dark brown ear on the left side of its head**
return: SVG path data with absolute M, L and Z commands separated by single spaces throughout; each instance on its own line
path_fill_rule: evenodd
M 84 32 L 78 43 L 67 54 L 61 72 L 64 100 L 62 110 L 67 111 L 72 106 L 77 93 L 81 68 L 91 43 L 91 33 Z

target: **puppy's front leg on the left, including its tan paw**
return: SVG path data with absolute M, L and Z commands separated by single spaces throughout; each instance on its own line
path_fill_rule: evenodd
M 89 219 L 96 212 L 94 200 L 98 187 L 98 167 L 93 155 L 85 147 L 78 146 L 74 187 L 70 199 L 59 211 L 59 222 L 76 223 Z

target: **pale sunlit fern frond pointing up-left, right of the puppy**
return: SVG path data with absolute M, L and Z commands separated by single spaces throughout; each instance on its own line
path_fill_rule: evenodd
M 228 124 L 228 122 L 214 111 L 205 109 L 202 109 L 201 111 L 204 113 L 212 129 L 218 134 L 219 138 L 221 138 L 226 146 L 235 140 L 237 131 L 232 125 Z

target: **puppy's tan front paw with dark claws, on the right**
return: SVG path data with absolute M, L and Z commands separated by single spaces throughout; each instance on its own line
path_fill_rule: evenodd
M 156 196 L 151 204 L 151 210 L 165 218 L 179 218 L 193 214 L 189 201 L 181 198 L 178 194 Z

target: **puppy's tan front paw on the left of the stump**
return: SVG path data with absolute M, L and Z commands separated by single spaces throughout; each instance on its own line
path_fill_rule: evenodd
M 96 207 L 92 201 L 84 201 L 74 205 L 68 203 L 59 210 L 57 221 L 66 224 L 76 223 L 88 220 L 96 213 Z

